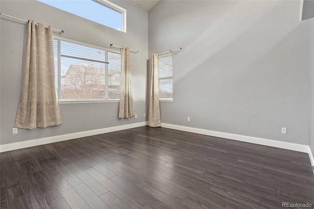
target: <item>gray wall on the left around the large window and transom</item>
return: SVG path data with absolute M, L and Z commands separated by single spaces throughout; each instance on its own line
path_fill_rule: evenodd
M 137 119 L 118 119 L 119 103 L 60 104 L 63 124 L 46 129 L 12 134 L 21 92 L 25 54 L 26 23 L 1 16 L 0 19 L 0 144 L 21 142 L 79 131 L 147 121 L 146 78 L 148 56 L 147 11 L 128 1 L 114 1 L 127 9 L 127 33 L 102 26 L 34 0 L 1 0 L 1 13 L 64 29 L 67 38 L 109 47 L 112 43 L 138 50 L 131 53 L 132 88 Z

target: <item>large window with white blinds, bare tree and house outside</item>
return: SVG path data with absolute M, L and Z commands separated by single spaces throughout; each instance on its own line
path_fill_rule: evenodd
M 59 37 L 53 50 L 60 102 L 120 98 L 120 53 Z

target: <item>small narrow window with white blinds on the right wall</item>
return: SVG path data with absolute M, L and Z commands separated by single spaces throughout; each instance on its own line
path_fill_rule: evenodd
M 159 70 L 159 99 L 171 100 L 173 93 L 172 80 L 172 53 L 158 56 Z

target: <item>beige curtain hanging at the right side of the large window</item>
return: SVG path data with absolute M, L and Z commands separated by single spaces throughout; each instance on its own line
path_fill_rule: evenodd
M 121 87 L 119 118 L 131 118 L 136 115 L 131 91 L 131 65 L 129 47 L 121 48 Z

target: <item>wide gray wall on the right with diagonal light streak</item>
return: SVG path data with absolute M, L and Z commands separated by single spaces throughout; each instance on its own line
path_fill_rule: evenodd
M 310 25 L 299 11 L 299 1 L 159 1 L 149 53 L 183 47 L 161 121 L 308 145 Z

